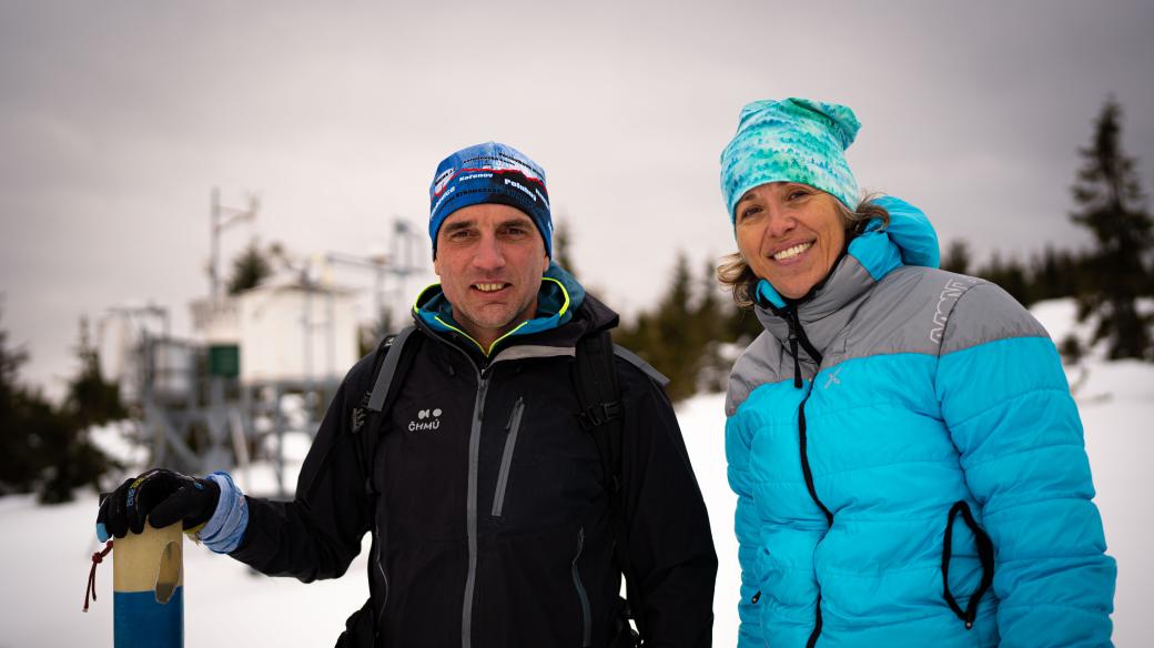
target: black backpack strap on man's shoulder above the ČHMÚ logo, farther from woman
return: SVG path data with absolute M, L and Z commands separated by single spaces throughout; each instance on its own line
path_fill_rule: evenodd
M 396 336 L 387 336 L 376 348 L 373 357 L 373 389 L 365 394 L 362 407 L 353 410 L 352 432 L 357 447 L 357 459 L 365 475 L 365 492 L 376 496 L 373 484 L 373 460 L 376 458 L 376 444 L 381 436 L 381 425 L 388 415 L 389 407 L 400 391 L 398 375 L 404 376 L 412 366 L 415 347 L 420 336 L 413 341 L 410 337 L 415 326 L 406 326 Z

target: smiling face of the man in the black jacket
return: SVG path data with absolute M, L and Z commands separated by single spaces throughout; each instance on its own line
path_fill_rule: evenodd
M 452 316 L 481 346 L 533 317 L 549 257 L 524 212 L 500 204 L 462 208 L 436 240 L 433 268 Z

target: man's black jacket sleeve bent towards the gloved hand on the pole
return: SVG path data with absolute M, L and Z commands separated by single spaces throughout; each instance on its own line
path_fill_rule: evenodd
M 304 582 L 337 578 L 360 552 L 369 528 L 365 477 L 351 434 L 372 356 L 342 382 L 301 467 L 295 498 L 273 502 L 248 497 L 248 526 L 231 556 L 269 575 Z

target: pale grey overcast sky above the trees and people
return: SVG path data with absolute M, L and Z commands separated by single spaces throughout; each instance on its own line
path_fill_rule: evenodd
M 853 107 L 859 182 L 980 254 L 1086 244 L 1069 187 L 1110 95 L 1154 190 L 1148 1 L 427 5 L 0 0 L 0 327 L 25 379 L 58 392 L 77 318 L 112 306 L 188 332 L 211 187 L 261 197 L 226 259 L 253 236 L 364 255 L 395 214 L 422 229 L 436 164 L 488 140 L 545 167 L 624 312 L 677 250 L 732 251 L 718 155 L 758 98 Z

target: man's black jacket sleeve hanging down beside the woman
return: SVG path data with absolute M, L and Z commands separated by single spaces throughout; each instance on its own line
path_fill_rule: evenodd
M 624 523 L 642 598 L 635 613 L 645 646 L 707 647 L 718 559 L 705 500 L 665 393 L 632 368 L 619 369 Z

